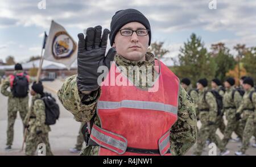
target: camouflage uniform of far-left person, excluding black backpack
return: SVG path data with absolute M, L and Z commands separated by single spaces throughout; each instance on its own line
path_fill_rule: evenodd
M 18 73 L 23 73 L 22 70 L 15 70 L 14 75 Z M 13 136 L 14 136 L 14 123 L 17 116 L 17 112 L 19 111 L 20 118 L 22 119 L 24 125 L 24 118 L 28 112 L 28 96 L 24 98 L 14 97 L 11 91 L 7 90 L 10 87 L 10 76 L 7 77 L 1 87 L 1 93 L 8 97 L 8 126 L 7 126 L 7 147 L 11 148 L 13 144 Z

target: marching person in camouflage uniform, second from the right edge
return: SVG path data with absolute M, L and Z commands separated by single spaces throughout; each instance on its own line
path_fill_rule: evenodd
M 232 86 L 226 87 L 226 91 L 223 97 L 223 108 L 224 108 L 224 113 L 226 116 L 226 120 L 228 123 L 226 124 L 225 132 L 224 132 L 224 137 L 222 139 L 222 142 L 224 146 L 228 144 L 229 139 L 231 138 L 232 132 L 235 131 L 237 132 L 237 128 L 239 125 L 239 122 L 236 119 L 236 110 L 240 106 L 240 103 L 242 101 L 242 96 L 238 91 L 235 91 L 234 87 L 234 79 L 233 78 L 228 78 L 227 81 L 232 80 Z M 229 82 L 232 82 L 229 81 Z M 232 93 L 234 91 L 234 97 L 232 97 Z

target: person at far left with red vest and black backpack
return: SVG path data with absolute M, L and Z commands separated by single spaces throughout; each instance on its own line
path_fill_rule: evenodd
M 23 72 L 21 64 L 15 64 L 14 74 L 7 77 L 1 87 L 1 93 L 8 97 L 7 105 L 7 142 L 5 150 L 10 150 L 13 145 L 14 123 L 19 111 L 24 126 L 24 118 L 28 111 L 28 85 L 30 76 Z M 7 90 L 10 87 L 10 90 Z

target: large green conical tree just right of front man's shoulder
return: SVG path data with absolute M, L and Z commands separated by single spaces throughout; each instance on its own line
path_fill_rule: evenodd
M 180 48 L 178 55 L 179 66 L 175 68 L 178 77 L 188 77 L 193 85 L 196 85 L 200 78 L 211 80 L 215 76 L 216 64 L 213 58 L 207 53 L 201 37 L 192 34 L 187 43 Z

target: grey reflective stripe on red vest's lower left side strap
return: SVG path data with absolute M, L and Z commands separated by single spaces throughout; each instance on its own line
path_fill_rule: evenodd
M 103 130 L 103 129 L 101 128 L 101 130 Z M 104 130 L 104 131 L 106 131 L 106 130 Z M 112 133 L 112 132 L 109 132 L 109 131 L 106 131 L 106 132 Z M 114 133 L 112 133 L 112 134 L 115 135 L 115 136 L 118 136 L 118 137 L 122 137 L 122 136 L 116 135 L 116 134 L 114 134 Z M 117 140 L 117 139 L 114 139 L 113 137 L 110 137 L 110 136 L 108 136 L 108 135 L 105 135 L 105 134 L 103 134 L 103 133 L 97 131 L 95 128 L 92 128 L 92 135 L 93 135 L 94 137 L 96 137 L 96 139 L 98 139 L 98 140 L 100 140 L 100 141 L 102 141 L 102 142 L 104 142 L 104 143 L 106 143 L 106 144 L 112 145 L 112 146 L 115 147 L 115 148 L 121 149 L 121 150 L 123 151 L 122 153 L 125 153 L 126 148 L 127 148 L 127 140 L 126 140 L 124 137 L 122 137 L 122 138 L 123 138 L 124 140 L 126 140 L 126 142 L 123 142 L 123 141 L 121 141 L 121 140 Z M 91 138 L 91 139 L 92 139 L 92 138 Z M 93 139 L 92 139 L 92 140 L 93 140 Z M 106 145 L 102 145 L 102 144 L 98 143 L 98 142 L 95 141 L 95 140 L 93 140 L 93 141 L 96 142 L 98 145 L 101 145 L 102 147 L 108 148 L 108 149 L 110 149 L 110 150 L 112 150 L 112 151 L 118 153 L 117 151 L 115 151 L 115 150 L 113 150 L 113 149 L 107 147 Z M 118 154 L 122 154 L 122 153 L 118 153 Z

